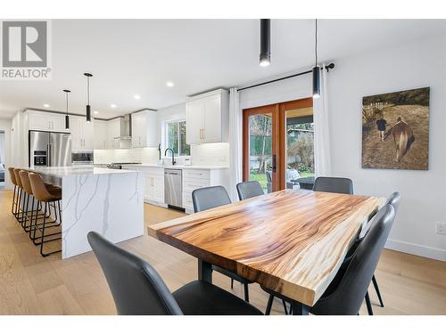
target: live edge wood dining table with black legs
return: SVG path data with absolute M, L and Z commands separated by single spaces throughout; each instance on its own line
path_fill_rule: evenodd
M 293 299 L 308 314 L 361 228 L 385 199 L 285 190 L 153 224 L 149 235 L 198 258 L 198 277 L 219 265 Z

